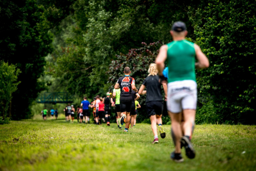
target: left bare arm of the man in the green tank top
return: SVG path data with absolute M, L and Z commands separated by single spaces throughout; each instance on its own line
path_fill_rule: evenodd
M 163 75 L 163 70 L 165 68 L 165 60 L 167 59 L 167 50 L 168 50 L 167 45 L 161 46 L 159 53 L 156 57 L 155 63 L 158 69 L 159 76 Z

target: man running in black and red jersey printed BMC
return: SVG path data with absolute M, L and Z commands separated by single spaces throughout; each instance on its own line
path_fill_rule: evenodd
M 124 118 L 126 118 L 124 132 L 128 132 L 128 127 L 130 123 L 130 111 L 132 107 L 132 90 L 138 92 L 138 89 L 135 87 L 134 78 L 130 77 L 130 68 L 124 68 L 124 76 L 118 78 L 115 89 L 120 89 L 120 110 L 122 118 L 120 123 L 124 123 Z

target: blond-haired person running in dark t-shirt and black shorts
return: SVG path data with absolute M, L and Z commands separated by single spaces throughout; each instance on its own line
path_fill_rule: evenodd
M 161 83 L 160 78 L 157 75 L 158 70 L 156 68 L 156 64 L 150 64 L 148 68 L 148 76 L 143 81 L 139 94 L 146 95 L 146 109 L 148 113 L 148 117 L 151 121 L 151 129 L 154 134 L 154 143 L 158 143 L 158 135 L 157 135 L 157 127 L 160 131 L 161 138 L 165 138 L 165 131 L 162 126 L 162 113 L 163 113 L 163 96 L 161 93 Z M 144 89 L 147 88 L 146 91 Z

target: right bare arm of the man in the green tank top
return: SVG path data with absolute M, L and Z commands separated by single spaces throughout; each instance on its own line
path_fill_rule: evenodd
M 195 62 L 195 68 L 208 68 L 209 67 L 208 58 L 201 51 L 201 48 L 197 44 L 194 44 L 194 46 L 195 46 L 195 55 L 198 60 L 198 62 Z

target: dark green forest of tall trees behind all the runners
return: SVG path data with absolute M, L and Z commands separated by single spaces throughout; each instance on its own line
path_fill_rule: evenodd
M 0 60 L 20 70 L 10 117 L 40 113 L 44 92 L 105 96 L 125 66 L 139 88 L 180 20 L 210 61 L 196 70 L 197 124 L 256 124 L 255 11 L 255 0 L 0 0 Z

